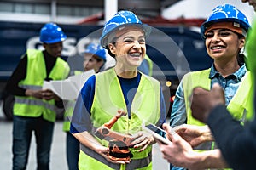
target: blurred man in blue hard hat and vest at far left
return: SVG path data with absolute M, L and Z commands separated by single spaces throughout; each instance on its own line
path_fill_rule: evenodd
M 40 41 L 45 50 L 27 49 L 8 82 L 9 92 L 15 95 L 13 169 L 26 169 L 32 132 L 37 141 L 38 169 L 49 169 L 55 109 L 63 107 L 63 103 L 42 87 L 45 80 L 61 80 L 69 73 L 67 62 L 60 58 L 66 38 L 60 26 L 44 25 Z

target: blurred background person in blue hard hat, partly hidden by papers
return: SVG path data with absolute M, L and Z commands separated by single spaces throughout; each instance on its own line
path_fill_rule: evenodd
M 106 62 L 106 52 L 105 49 L 99 43 L 90 43 L 84 53 L 84 71 L 90 71 L 94 69 L 95 72 L 99 72 Z M 74 71 L 74 75 L 82 74 L 83 71 Z M 70 120 L 73 115 L 73 108 L 75 101 L 68 101 L 65 107 L 66 111 L 64 114 L 63 131 L 67 133 L 66 138 L 66 156 L 67 156 L 67 166 L 70 170 L 79 169 L 79 150 L 80 143 L 79 140 L 73 137 L 72 133 L 69 132 Z

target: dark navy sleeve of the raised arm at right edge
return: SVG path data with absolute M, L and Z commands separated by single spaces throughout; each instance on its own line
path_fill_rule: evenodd
M 242 127 L 224 107 L 218 106 L 210 113 L 207 123 L 224 159 L 232 168 L 253 169 L 255 167 L 255 120 Z

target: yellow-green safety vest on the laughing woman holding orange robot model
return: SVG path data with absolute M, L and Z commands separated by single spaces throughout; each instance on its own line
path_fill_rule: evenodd
M 108 122 L 117 114 L 119 109 L 127 111 L 125 98 L 115 71 L 110 69 L 96 74 L 96 90 L 91 107 L 91 121 L 94 128 L 101 127 Z M 159 119 L 160 82 L 142 73 L 137 92 L 131 104 L 131 119 L 128 116 L 122 116 L 111 129 L 119 133 L 134 134 L 142 130 L 143 120 L 156 124 Z M 108 146 L 106 140 L 98 140 L 102 145 Z M 80 156 L 83 156 L 79 158 L 79 167 L 83 167 L 81 169 L 92 169 L 93 167 L 106 169 L 107 162 L 104 162 L 104 158 L 100 159 L 98 154 L 93 155 L 91 152 L 92 150 L 80 152 Z M 108 162 L 108 167 L 110 169 L 152 169 L 151 152 L 151 146 L 142 152 L 131 148 L 133 157 L 129 165 L 121 165 L 117 168 L 116 164 Z

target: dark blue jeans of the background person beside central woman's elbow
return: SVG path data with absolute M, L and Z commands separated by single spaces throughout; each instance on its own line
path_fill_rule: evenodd
M 72 133 L 67 132 L 66 140 L 66 150 L 67 150 L 67 165 L 69 170 L 78 170 L 79 169 L 79 151 L 80 143 Z

